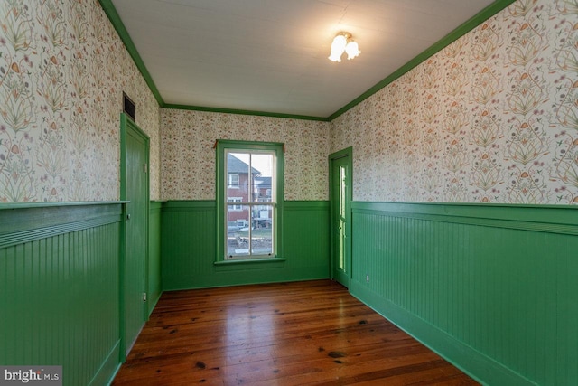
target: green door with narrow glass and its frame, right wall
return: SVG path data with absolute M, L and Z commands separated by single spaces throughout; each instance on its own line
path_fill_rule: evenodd
M 331 202 L 331 279 L 350 287 L 352 148 L 329 156 Z

